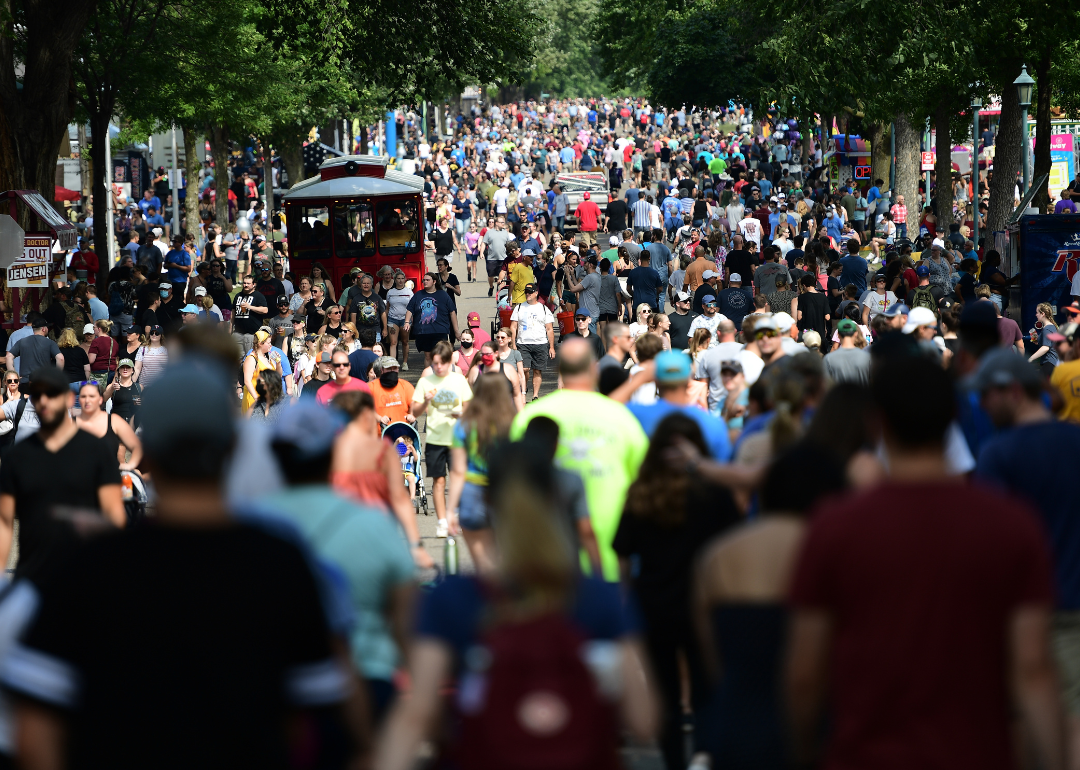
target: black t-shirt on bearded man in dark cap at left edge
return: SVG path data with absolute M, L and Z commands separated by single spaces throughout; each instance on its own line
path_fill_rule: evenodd
M 97 511 L 97 490 L 109 484 L 120 484 L 120 463 L 104 438 L 77 431 L 55 452 L 39 433 L 15 444 L 0 463 L 0 494 L 15 498 L 16 572 L 39 569 L 53 541 L 68 531 L 53 519 L 55 506 Z

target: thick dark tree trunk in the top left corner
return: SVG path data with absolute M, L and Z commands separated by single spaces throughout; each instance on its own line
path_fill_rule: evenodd
M 22 9 L 13 32 L 13 5 Z M 93 0 L 0 0 L 0 190 L 56 195 L 56 149 L 75 111 L 71 56 Z M 16 39 L 27 41 L 16 56 Z M 16 80 L 15 59 L 22 67 Z

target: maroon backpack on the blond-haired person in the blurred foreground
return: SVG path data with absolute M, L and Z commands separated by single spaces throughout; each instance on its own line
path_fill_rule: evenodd
M 461 770 L 617 770 L 615 710 L 561 612 L 491 625 L 458 688 Z M 486 654 L 485 654 L 486 652 Z

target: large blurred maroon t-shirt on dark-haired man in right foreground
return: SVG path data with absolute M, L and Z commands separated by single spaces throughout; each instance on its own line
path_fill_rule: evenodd
M 1010 616 L 1050 605 L 1036 515 L 959 482 L 883 484 L 811 519 L 796 610 L 833 621 L 827 770 L 1008 770 Z

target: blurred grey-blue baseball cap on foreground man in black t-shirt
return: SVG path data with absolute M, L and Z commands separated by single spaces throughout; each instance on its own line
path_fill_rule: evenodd
M 205 362 L 167 366 L 165 376 L 143 392 L 143 446 L 159 457 L 170 456 L 181 441 L 228 446 L 235 437 L 235 402 L 221 374 Z M 177 409 L 177 404 L 191 408 Z

